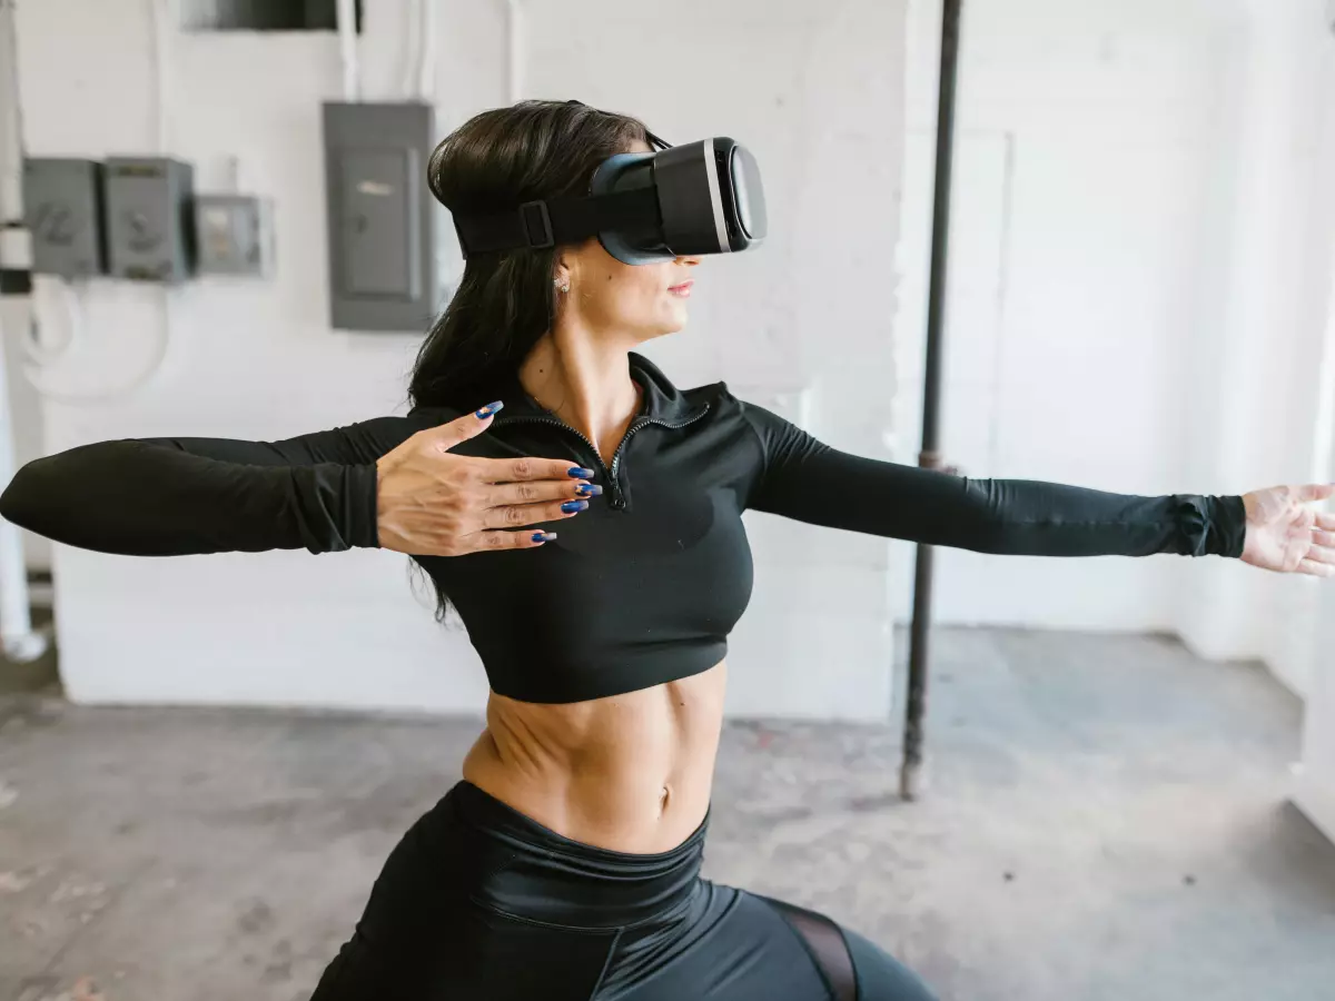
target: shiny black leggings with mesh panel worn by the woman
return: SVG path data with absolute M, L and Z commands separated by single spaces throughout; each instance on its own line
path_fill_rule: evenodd
M 933 1001 L 854 932 L 662 854 L 562 837 L 461 782 L 403 837 L 312 1001 Z

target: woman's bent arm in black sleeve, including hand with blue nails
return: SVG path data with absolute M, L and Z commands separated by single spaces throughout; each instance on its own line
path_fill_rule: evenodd
M 85 444 L 24 466 L 0 515 L 69 546 L 143 557 L 533 549 L 555 535 L 518 529 L 571 518 L 601 488 L 569 460 L 453 454 L 498 408 L 449 423 L 427 412 L 378 418 L 282 442 Z

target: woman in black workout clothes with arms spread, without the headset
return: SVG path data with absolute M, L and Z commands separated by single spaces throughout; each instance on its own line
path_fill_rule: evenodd
M 431 188 L 470 212 L 578 195 L 646 135 L 583 105 L 491 111 L 441 144 Z M 968 480 L 836 452 L 722 383 L 681 391 L 631 348 L 686 323 L 697 263 L 627 266 L 597 240 L 470 256 L 409 416 L 89 444 L 0 498 L 5 518 L 108 553 L 380 546 L 458 610 L 493 690 L 486 729 L 390 856 L 319 1001 L 930 997 L 856 932 L 698 876 L 746 507 L 987 553 L 1335 571 L 1335 518 L 1303 506 L 1330 488 Z

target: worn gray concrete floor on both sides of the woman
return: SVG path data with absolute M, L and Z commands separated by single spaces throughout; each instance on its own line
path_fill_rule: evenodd
M 1335 997 L 1335 846 L 1284 802 L 1300 707 L 1268 675 L 1157 638 L 934 654 L 922 802 L 890 727 L 732 725 L 706 873 L 943 1001 Z M 0 695 L 0 998 L 306 998 L 477 729 Z

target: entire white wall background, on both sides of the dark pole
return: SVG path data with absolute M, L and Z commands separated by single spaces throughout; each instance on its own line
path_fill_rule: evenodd
M 945 407 L 945 450 L 967 472 L 1145 492 L 1322 475 L 1315 414 L 1332 379 L 1311 359 L 1335 165 L 1331 121 L 1312 124 L 1335 115 L 1322 5 L 967 4 Z M 368 4 L 368 97 L 400 92 L 407 7 Z M 503 101 L 506 41 L 501 0 L 439 9 L 443 133 Z M 525 9 L 526 93 L 623 108 L 670 137 L 733 133 L 765 164 L 774 238 L 710 262 L 692 330 L 650 354 L 684 384 L 728 378 L 834 444 L 913 462 L 940 0 L 913 0 L 908 25 L 904 4 L 874 0 L 690 0 L 670 19 L 613 0 Z M 19 28 L 29 152 L 152 147 L 148 0 L 47 0 L 20 7 Z M 41 423 L 57 450 L 278 436 L 402 407 L 417 338 L 332 332 L 324 316 L 318 107 L 338 93 L 334 37 L 190 35 L 172 49 L 171 149 L 204 187 L 242 153 L 247 187 L 278 204 L 278 278 L 172 294 L 155 380 L 116 406 L 39 410 L 29 392 L 20 454 L 36 454 Z M 738 52 L 765 57 L 738 75 Z M 643 72 L 686 60 L 690 73 Z M 88 343 L 49 382 L 132 378 L 164 298 L 81 295 Z M 61 312 L 43 320 L 49 332 Z M 912 549 L 750 523 L 760 574 L 732 711 L 882 718 Z M 943 622 L 1167 629 L 1212 657 L 1263 655 L 1296 690 L 1312 670 L 1307 582 L 1223 561 L 939 555 Z M 406 599 L 388 554 L 56 561 L 79 699 L 473 709 L 485 691 L 466 639 Z

